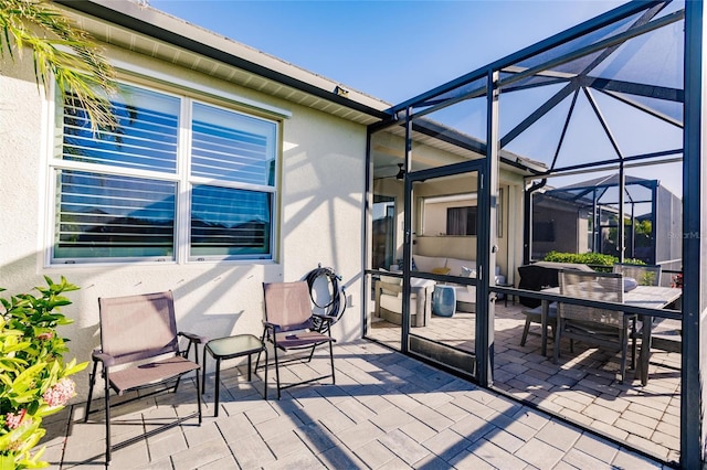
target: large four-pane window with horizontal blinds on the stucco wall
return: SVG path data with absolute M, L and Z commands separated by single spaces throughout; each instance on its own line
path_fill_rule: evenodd
M 131 85 L 112 103 L 95 133 L 56 104 L 52 263 L 273 258 L 275 121 Z

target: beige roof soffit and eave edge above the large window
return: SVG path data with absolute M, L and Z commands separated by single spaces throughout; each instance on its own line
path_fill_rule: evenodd
M 221 56 L 222 60 L 209 57 L 181 45 L 156 38 L 158 34 L 155 34 L 155 36 L 144 34 L 101 17 L 68 11 L 68 14 L 75 19 L 80 28 L 89 32 L 98 41 L 183 66 L 300 106 L 317 109 L 341 119 L 367 126 L 379 121 L 380 116 L 383 116 L 383 110 L 390 107 L 390 105 L 384 102 L 351 90 L 348 87 L 349 96 L 341 98 L 335 93 L 336 87 L 340 86 L 340 84 L 331 79 L 313 74 L 293 64 L 288 64 L 149 7 L 140 8 L 129 1 L 109 2 L 105 0 L 81 2 L 63 2 L 59 0 L 56 3 L 67 3 L 66 6 L 70 7 L 75 7 L 76 4 L 82 4 L 83 7 L 102 7 L 97 10 L 117 15 L 117 18 L 126 21 L 135 19 L 136 24 L 139 22 L 154 25 L 155 31 L 166 30 L 176 32 L 173 34 L 184 38 L 186 43 L 200 44 L 204 50 L 211 51 L 213 55 Z M 94 9 L 88 10 L 93 12 Z M 130 21 L 127 22 L 130 23 Z M 282 75 L 289 77 L 291 83 L 279 83 L 272 77 L 240 68 L 229 62 L 255 64 L 255 68 L 271 71 L 273 75 L 276 76 Z M 309 93 L 307 89 L 300 89 L 297 87 L 297 84 L 303 84 L 303 88 L 308 88 L 314 93 Z M 330 99 L 328 99 L 327 95 L 330 95 Z M 348 103 L 351 105 L 347 106 Z

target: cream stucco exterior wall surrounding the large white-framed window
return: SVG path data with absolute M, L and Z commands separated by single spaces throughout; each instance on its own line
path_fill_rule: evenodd
M 341 341 L 359 338 L 366 128 L 127 51 L 108 49 L 107 55 L 143 73 L 157 70 L 292 114 L 282 126 L 276 260 L 45 266 L 51 228 L 46 213 L 52 201 L 45 190 L 48 142 L 53 124 L 48 100 L 34 82 L 31 56 L 25 54 L 17 64 L 0 63 L 0 286 L 8 289 L 3 293 L 42 285 L 43 275 L 65 276 L 78 285 L 81 290 L 68 293 L 73 305 L 64 309 L 75 322 L 60 331 L 71 340 L 67 359 L 88 361 L 99 344 L 99 297 L 171 289 L 180 330 L 211 338 L 260 335 L 262 284 L 297 280 L 321 264 L 342 276 L 352 300 L 334 328 L 335 337 Z M 139 79 L 149 83 L 149 77 Z M 169 84 L 161 86 L 169 89 Z M 85 398 L 86 372 L 75 378 L 76 399 Z

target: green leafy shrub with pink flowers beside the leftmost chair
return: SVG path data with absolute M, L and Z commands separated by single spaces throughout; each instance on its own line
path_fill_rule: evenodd
M 54 284 L 44 277 L 48 287 L 38 287 L 40 297 L 19 293 L 10 300 L 0 298 L 4 313 L 0 316 L 0 469 L 46 467 L 39 460 L 44 452 L 32 449 L 44 436 L 42 418 L 61 410 L 74 393 L 68 375 L 88 364 L 72 360 L 64 364 L 68 352 L 65 339 L 56 327 L 72 320 L 59 312 L 71 301 L 63 292 L 77 290 L 64 277 Z M 1 290 L 6 290 L 0 288 Z

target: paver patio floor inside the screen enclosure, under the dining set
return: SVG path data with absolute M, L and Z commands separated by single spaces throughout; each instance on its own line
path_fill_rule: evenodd
M 655 350 L 650 381 L 642 386 L 634 371 L 619 383 L 620 354 L 577 343 L 562 345 L 558 364 L 540 354 L 540 338 L 520 337 L 525 316 L 519 305 L 496 305 L 494 386 L 542 410 L 590 427 L 598 432 L 641 449 L 656 459 L 679 461 L 680 355 Z M 432 317 L 412 332 L 444 344 L 474 351 L 475 314 L 456 312 L 453 318 Z M 540 327 L 531 327 L 539 332 Z M 469 333 L 472 332 L 472 333 Z M 400 327 L 376 322 L 370 338 L 400 348 Z

